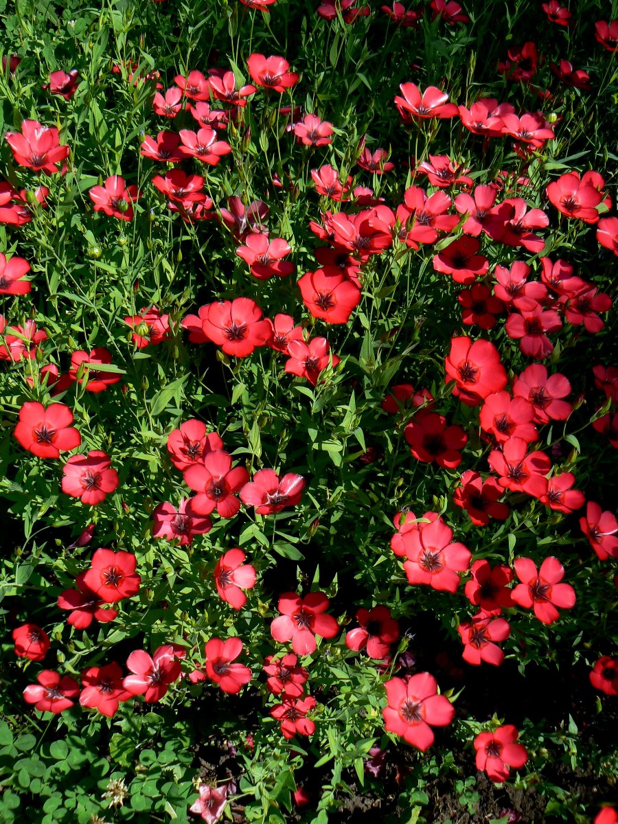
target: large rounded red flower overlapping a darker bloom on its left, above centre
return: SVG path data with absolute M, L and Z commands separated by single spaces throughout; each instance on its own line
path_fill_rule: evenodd
M 202 330 L 213 344 L 228 355 L 245 358 L 256 346 L 265 346 L 270 338 L 269 321 L 262 320 L 262 310 L 250 297 L 208 304 Z

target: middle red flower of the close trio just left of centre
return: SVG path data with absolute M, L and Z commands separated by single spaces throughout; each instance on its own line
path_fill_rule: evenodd
M 234 494 L 248 480 L 245 467 L 232 469 L 232 457 L 224 450 L 208 452 L 203 462 L 185 470 L 185 484 L 198 493 L 191 499 L 191 508 L 198 515 L 210 515 L 216 509 L 221 517 L 234 517 L 241 508 Z

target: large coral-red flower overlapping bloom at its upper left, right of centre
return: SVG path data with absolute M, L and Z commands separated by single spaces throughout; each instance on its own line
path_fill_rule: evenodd
M 471 551 L 452 541 L 452 529 L 441 517 L 419 523 L 405 541 L 404 570 L 410 584 L 425 584 L 442 592 L 456 592 L 458 572 L 470 567 Z

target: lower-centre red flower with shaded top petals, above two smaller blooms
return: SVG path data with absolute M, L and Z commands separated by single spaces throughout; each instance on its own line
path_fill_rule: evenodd
M 333 616 L 324 615 L 329 600 L 324 592 L 310 592 L 301 598 L 296 592 L 283 592 L 279 597 L 279 618 L 270 625 L 270 634 L 279 644 L 292 641 L 297 655 L 311 655 L 316 651 L 316 635 L 334 638 L 339 624 Z

